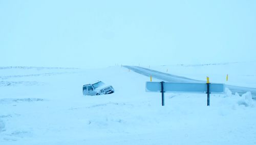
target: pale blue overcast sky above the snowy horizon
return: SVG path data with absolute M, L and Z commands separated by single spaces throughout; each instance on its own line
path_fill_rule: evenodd
M 0 66 L 255 61 L 256 1 L 0 0 Z

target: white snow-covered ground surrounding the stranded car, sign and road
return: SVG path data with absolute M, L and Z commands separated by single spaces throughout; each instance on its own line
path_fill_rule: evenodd
M 231 85 L 255 87 L 252 66 L 151 69 L 218 83 L 229 74 Z M 96 80 L 113 85 L 115 93 L 83 96 L 82 85 Z M 145 92 L 149 80 L 120 66 L 0 67 L 0 144 L 256 144 L 249 93 L 212 94 L 209 107 L 206 94 L 166 93 L 161 106 L 160 93 Z

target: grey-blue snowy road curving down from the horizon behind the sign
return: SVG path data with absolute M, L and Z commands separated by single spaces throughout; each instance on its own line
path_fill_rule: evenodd
M 176 75 L 170 75 L 164 72 L 160 72 L 160 71 L 156 71 L 156 70 L 148 69 L 144 67 L 139 67 L 139 66 L 124 66 L 124 67 L 131 69 L 141 75 L 152 76 L 159 80 L 168 81 L 168 82 L 184 82 L 184 83 L 205 82 L 205 81 L 199 81 L 199 80 L 189 79 L 185 77 L 180 77 Z M 246 93 L 247 91 L 250 91 L 252 94 L 252 98 L 256 99 L 256 88 L 240 87 L 240 86 L 232 86 L 232 85 L 226 85 L 226 87 L 229 88 L 229 90 L 231 90 L 233 93 L 238 92 L 240 95 Z

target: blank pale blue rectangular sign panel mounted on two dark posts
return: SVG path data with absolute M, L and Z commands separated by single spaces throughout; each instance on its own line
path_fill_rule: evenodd
M 210 93 L 223 93 L 225 84 L 209 84 Z M 146 91 L 161 91 L 161 82 L 146 82 Z M 206 93 L 206 83 L 163 83 L 163 91 L 165 92 L 195 92 Z

